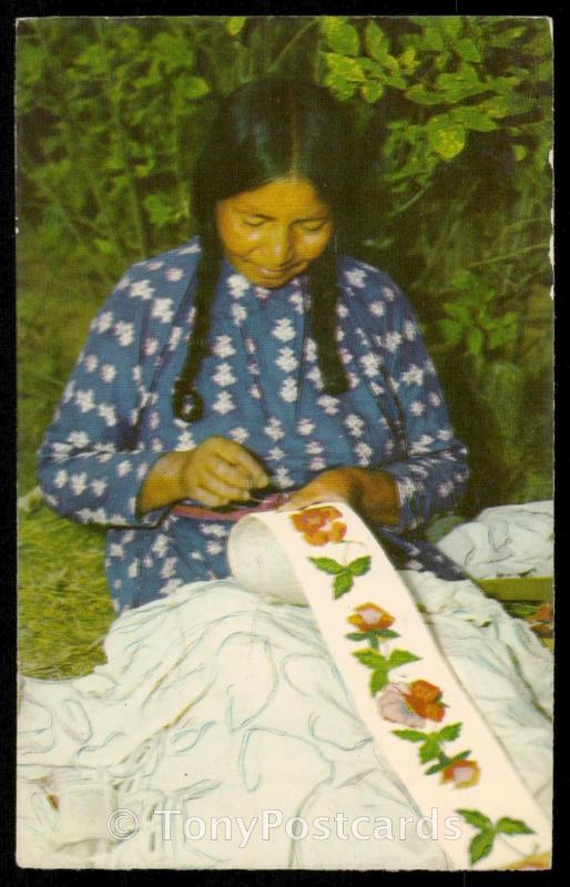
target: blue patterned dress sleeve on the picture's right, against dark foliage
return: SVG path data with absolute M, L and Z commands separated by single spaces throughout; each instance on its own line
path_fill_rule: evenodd
M 393 298 L 387 300 L 381 361 L 400 412 L 407 458 L 384 462 L 381 469 L 395 479 L 400 500 L 400 522 L 388 529 L 403 533 L 457 510 L 469 470 L 409 302 L 391 282 L 385 290 Z

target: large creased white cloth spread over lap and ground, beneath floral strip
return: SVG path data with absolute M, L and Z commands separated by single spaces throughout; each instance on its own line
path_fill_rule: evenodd
M 528 562 L 528 546 L 513 551 L 513 573 L 522 557 Z M 401 578 L 550 815 L 549 651 L 470 581 Z M 21 679 L 20 866 L 446 867 L 439 845 L 415 828 L 432 810 L 417 808 L 373 745 L 307 608 L 264 602 L 231 579 L 196 582 L 121 615 L 105 653 L 108 664 L 85 677 Z M 170 834 L 156 810 L 175 812 Z M 267 838 L 263 824 L 279 815 Z M 385 839 L 350 834 L 363 815 L 370 825 L 360 834 L 371 833 L 375 817 L 394 824 Z M 217 839 L 213 817 L 230 820 Z M 308 824 L 307 837 L 287 832 L 293 817 Z M 315 837 L 316 817 L 332 824 L 327 839 Z M 405 839 L 400 817 L 411 820 Z

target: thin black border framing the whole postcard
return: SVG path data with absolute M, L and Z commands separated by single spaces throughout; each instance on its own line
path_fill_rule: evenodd
M 0 669 L 3 677 L 3 699 L 0 711 L 8 715 L 0 724 L 0 875 L 2 883 L 14 885 L 78 885 L 83 887 L 85 878 L 112 885 L 136 883 L 139 887 L 166 879 L 176 884 L 242 885 L 262 881 L 275 885 L 304 885 L 334 883 L 335 887 L 353 884 L 369 884 L 391 887 L 399 884 L 458 885 L 497 887 L 512 883 L 513 878 L 530 879 L 532 885 L 561 885 L 570 856 L 570 824 L 568 799 L 570 798 L 570 767 L 567 747 L 570 736 L 567 716 L 567 699 L 563 665 L 567 649 L 564 632 L 569 624 L 568 601 L 570 594 L 570 570 L 564 554 L 570 550 L 570 520 L 567 514 L 568 466 L 570 440 L 566 419 L 566 386 L 570 368 L 570 347 L 566 330 L 570 328 L 567 256 L 569 249 L 568 165 L 570 150 L 564 118 L 570 113 L 567 70 L 570 47 L 568 18 L 563 0 L 558 2 L 375 2 L 356 0 L 204 0 L 176 2 L 175 0 L 3 0 L 0 9 L 0 255 L 2 276 L 0 281 L 0 440 L 2 441 L 2 469 L 0 471 Z M 554 855 L 553 867 L 548 871 L 530 875 L 517 871 L 307 871 L 307 870 L 145 870 L 130 871 L 71 870 L 71 869 L 21 869 L 14 861 L 14 717 L 16 717 L 16 259 L 14 259 L 14 165 L 13 165 L 13 64 L 14 30 L 20 18 L 47 16 L 200 16 L 200 14 L 353 14 L 353 16 L 413 16 L 413 14 L 480 14 L 480 16 L 548 16 L 553 21 L 554 32 L 554 257 L 556 257 L 556 571 L 557 571 L 557 655 L 556 655 L 556 761 L 554 761 Z M 567 591 L 568 588 L 568 591 Z M 562 881 L 563 879 L 563 881 Z M 529 883 L 530 883 L 529 881 Z

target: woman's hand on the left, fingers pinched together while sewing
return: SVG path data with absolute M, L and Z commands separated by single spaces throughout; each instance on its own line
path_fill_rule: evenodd
M 250 491 L 266 487 L 268 478 L 244 447 L 223 437 L 210 437 L 193 450 L 167 452 L 146 476 L 138 511 L 194 499 L 210 508 L 250 498 Z

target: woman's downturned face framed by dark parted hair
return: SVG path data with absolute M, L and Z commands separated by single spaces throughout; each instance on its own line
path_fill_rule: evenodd
M 333 236 L 330 207 L 311 182 L 294 177 L 220 201 L 216 225 L 227 261 L 269 289 L 302 274 Z

